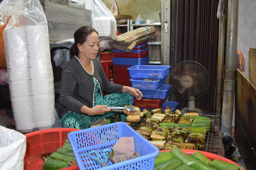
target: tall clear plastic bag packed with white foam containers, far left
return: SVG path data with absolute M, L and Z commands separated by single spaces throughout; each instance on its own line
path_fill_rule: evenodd
M 55 96 L 49 32 L 38 0 L 4 0 L 0 4 L 5 58 L 15 128 L 19 132 L 60 128 Z

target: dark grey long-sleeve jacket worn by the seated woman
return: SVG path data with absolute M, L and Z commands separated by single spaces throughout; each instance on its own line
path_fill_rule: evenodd
M 83 105 L 92 108 L 94 103 L 95 83 L 93 77 L 100 84 L 100 92 L 122 93 L 123 86 L 109 82 L 103 67 L 98 58 L 92 61 L 94 66 L 93 74 L 87 73 L 78 58 L 71 58 L 62 71 L 59 115 L 62 116 L 68 111 L 81 113 Z

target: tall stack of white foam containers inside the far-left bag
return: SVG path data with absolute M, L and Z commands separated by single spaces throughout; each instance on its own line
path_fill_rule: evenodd
M 59 120 L 47 25 L 5 29 L 3 36 L 16 130 L 52 128 Z

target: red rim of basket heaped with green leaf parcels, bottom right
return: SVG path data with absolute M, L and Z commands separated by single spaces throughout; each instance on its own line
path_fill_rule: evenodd
M 198 150 L 191 150 L 191 149 L 181 149 L 183 152 L 185 152 L 186 154 L 188 155 L 191 155 L 191 154 L 194 154 L 196 151 Z M 166 150 L 160 150 L 159 153 L 163 152 L 163 151 L 167 151 L 167 152 L 170 152 L 170 149 L 166 149 Z M 225 161 L 227 163 L 231 163 L 231 164 L 235 164 L 235 165 L 238 165 L 237 163 L 233 162 L 232 160 L 230 159 L 227 159 L 225 157 L 222 157 L 222 156 L 219 156 L 219 155 L 216 155 L 216 154 L 212 154 L 210 152 L 205 152 L 205 151 L 199 151 L 201 152 L 202 154 L 204 154 L 204 156 L 206 156 L 207 158 L 209 158 L 210 160 L 215 160 L 215 159 L 219 159 L 219 160 L 222 160 L 222 161 Z M 243 168 L 243 170 L 246 170 L 245 168 Z

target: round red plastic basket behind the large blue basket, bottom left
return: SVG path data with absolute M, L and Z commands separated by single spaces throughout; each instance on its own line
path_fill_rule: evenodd
M 53 128 L 39 130 L 25 134 L 27 149 L 24 158 L 24 169 L 43 169 L 44 160 L 41 154 L 57 151 L 68 139 L 68 133 L 78 131 L 71 128 Z M 73 165 L 62 170 L 79 169 L 78 165 Z

